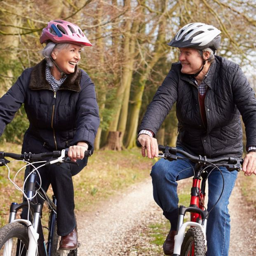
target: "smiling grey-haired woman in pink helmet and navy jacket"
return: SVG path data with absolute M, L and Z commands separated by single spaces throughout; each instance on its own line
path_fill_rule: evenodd
M 78 68 L 83 46 L 92 44 L 73 23 L 50 21 L 40 42 L 46 43 L 40 63 L 23 71 L 16 83 L 0 99 L 0 135 L 24 103 L 29 127 L 22 152 L 42 153 L 69 147 L 68 156 L 76 164 L 63 163 L 39 169 L 42 187 L 52 185 L 57 199 L 57 230 L 60 249 L 75 249 L 74 190 L 72 176 L 87 164 L 85 150 L 93 150 L 99 127 L 99 108 L 94 84 Z

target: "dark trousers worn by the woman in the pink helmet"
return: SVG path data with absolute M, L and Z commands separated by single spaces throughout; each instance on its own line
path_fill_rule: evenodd
M 75 202 L 74 202 L 74 188 L 72 176 L 78 174 L 87 164 L 88 157 L 82 160 L 77 160 L 78 165 L 61 163 L 51 164 L 49 166 L 44 166 L 38 169 L 42 181 L 43 190 L 47 191 L 50 184 L 52 185 L 53 193 L 57 200 L 57 233 L 60 236 L 68 235 L 76 225 L 75 222 Z M 36 167 L 40 164 L 35 164 Z M 26 170 L 25 176 L 28 175 L 28 170 Z M 38 183 L 40 182 L 39 177 L 37 177 Z M 38 198 L 38 202 L 40 202 Z M 25 211 L 22 212 L 22 218 Z

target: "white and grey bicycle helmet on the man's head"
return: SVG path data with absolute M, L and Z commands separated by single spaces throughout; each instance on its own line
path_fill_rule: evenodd
M 190 23 L 183 26 L 167 45 L 173 47 L 192 47 L 198 50 L 211 48 L 214 52 L 221 43 L 218 28 L 205 23 Z

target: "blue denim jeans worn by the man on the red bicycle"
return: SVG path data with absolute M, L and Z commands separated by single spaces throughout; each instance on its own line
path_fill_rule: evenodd
M 161 159 L 152 167 L 151 177 L 153 183 L 153 196 L 155 202 L 164 211 L 164 216 L 171 223 L 177 223 L 178 215 L 178 180 L 189 178 L 194 175 L 191 166 L 195 163 L 188 160 L 176 160 L 169 162 Z M 224 177 L 224 190 L 221 199 L 209 214 L 207 222 L 207 256 L 228 256 L 230 239 L 230 215 L 228 214 L 228 200 L 235 185 L 237 171 L 228 171 L 221 167 Z M 191 180 L 192 185 L 192 180 Z M 208 177 L 208 205 L 209 211 L 217 202 L 223 188 L 221 173 L 214 169 Z M 176 219 L 175 219 L 176 218 Z M 176 230 L 176 227 L 172 227 Z

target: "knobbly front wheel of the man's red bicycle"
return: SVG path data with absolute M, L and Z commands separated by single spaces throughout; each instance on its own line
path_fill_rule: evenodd
M 181 245 L 181 256 L 205 256 L 204 234 L 200 228 L 190 228 Z

